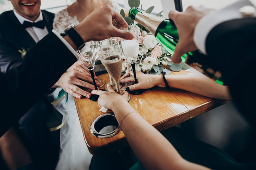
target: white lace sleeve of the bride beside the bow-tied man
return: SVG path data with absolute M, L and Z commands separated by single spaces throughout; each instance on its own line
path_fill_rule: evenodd
M 53 28 L 59 34 L 61 34 L 61 32 L 71 24 L 74 24 L 75 26 L 77 26 L 79 24 L 79 22 L 78 22 L 76 16 L 72 17 L 69 15 L 67 8 L 65 8 L 55 14 Z

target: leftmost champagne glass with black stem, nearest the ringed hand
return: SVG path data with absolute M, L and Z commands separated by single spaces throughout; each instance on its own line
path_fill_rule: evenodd
M 94 75 L 94 65 L 95 65 L 95 51 L 94 45 L 92 42 L 88 42 L 82 49 L 77 50 L 78 56 L 82 61 L 82 64 L 90 71 L 91 78 L 93 81 L 93 85 L 95 90 L 98 90 L 96 82 L 95 82 L 95 75 Z M 98 101 L 99 95 L 91 94 L 89 98 L 91 101 Z

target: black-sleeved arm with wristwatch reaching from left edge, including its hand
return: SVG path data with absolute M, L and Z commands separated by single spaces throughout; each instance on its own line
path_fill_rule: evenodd
M 119 26 L 128 26 L 121 15 L 109 6 L 105 6 L 93 12 L 76 29 L 79 30 L 77 31 L 84 42 L 100 41 L 110 36 L 133 38 L 129 32 L 114 28 L 112 19 L 116 19 Z M 68 49 L 71 45 L 76 50 L 74 43 L 68 36 L 64 39 L 68 45 L 54 33 L 46 35 L 27 52 L 22 66 L 0 73 L 0 136 L 26 113 L 77 60 Z M 61 64 L 56 64 L 60 61 Z

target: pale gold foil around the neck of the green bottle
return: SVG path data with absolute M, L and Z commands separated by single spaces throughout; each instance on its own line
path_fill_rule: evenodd
M 157 27 L 164 20 L 164 18 L 155 17 L 146 12 L 143 14 L 138 12 L 137 15 L 135 16 L 135 20 L 142 26 L 146 27 L 148 31 L 150 31 L 152 34 L 155 35 L 155 31 Z

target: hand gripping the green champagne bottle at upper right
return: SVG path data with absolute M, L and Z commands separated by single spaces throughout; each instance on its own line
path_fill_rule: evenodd
M 202 17 L 212 11 L 210 8 L 189 6 L 185 12 L 169 12 L 169 18 L 174 21 L 180 37 L 171 58 L 174 63 L 180 63 L 183 54 L 197 50 L 193 40 L 195 27 Z

